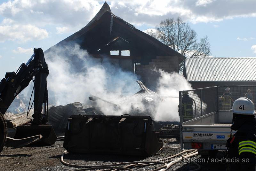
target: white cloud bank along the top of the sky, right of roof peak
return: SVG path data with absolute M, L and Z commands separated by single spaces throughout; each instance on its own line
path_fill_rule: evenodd
M 159 3 L 156 0 L 141 1 L 111 1 L 111 10 L 117 16 L 132 24 L 147 24 L 155 26 L 165 18 L 180 16 L 184 21 L 218 22 L 236 17 L 256 17 L 256 1 L 177 1 L 165 0 Z M 198 2 L 198 3 L 197 3 Z M 198 5 L 196 5 L 196 3 Z M 136 17 L 137 16 L 137 17 Z

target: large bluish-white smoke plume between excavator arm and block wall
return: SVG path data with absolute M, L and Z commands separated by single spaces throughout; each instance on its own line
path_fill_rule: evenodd
M 50 70 L 48 89 L 53 92 L 50 95 L 54 96 L 55 105 L 76 101 L 86 104 L 90 94 L 110 99 L 125 91 L 136 92 L 137 83 L 132 73 L 116 69 L 108 61 L 90 57 L 77 44 L 52 47 L 45 53 L 45 58 Z

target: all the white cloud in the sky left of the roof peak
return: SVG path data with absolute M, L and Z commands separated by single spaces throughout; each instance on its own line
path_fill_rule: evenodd
M 9 0 L 0 3 L 0 42 L 26 42 L 48 37 L 42 27 L 56 27 L 57 34 L 84 27 L 100 10 L 96 0 Z M 47 27 L 46 27 L 47 28 Z

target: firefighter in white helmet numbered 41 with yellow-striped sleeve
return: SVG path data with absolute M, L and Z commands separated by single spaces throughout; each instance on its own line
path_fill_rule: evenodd
M 256 164 L 256 121 L 253 102 L 246 98 L 238 98 L 233 108 L 232 130 L 236 130 L 234 136 L 227 140 L 228 171 L 255 171 Z M 235 160 L 234 160 L 235 159 Z

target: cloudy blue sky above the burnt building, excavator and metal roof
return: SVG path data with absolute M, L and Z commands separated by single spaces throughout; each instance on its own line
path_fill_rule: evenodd
M 107 1 L 112 12 L 140 30 L 180 16 L 207 35 L 213 57 L 256 57 L 256 1 L 141 0 Z M 47 50 L 84 27 L 104 1 L 0 0 L 0 77 L 32 55 Z

